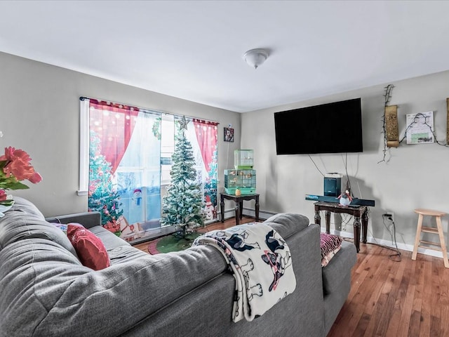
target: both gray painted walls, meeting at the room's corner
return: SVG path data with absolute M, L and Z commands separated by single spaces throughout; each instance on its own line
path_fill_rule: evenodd
M 449 72 L 392 84 L 395 88 L 390 104 L 398 105 L 401 136 L 406 128 L 406 114 L 434 111 L 436 135 L 444 142 Z M 445 178 L 449 149 L 436 144 L 403 143 L 387 151 L 387 162 L 377 164 L 382 160 L 386 85 L 238 114 L 0 53 L 0 131 L 4 133 L 0 147 L 13 146 L 29 152 L 43 181 L 13 194 L 30 199 L 44 215 L 53 216 L 87 209 L 87 197 L 76 195 L 79 96 L 215 120 L 220 123 L 219 192 L 223 190 L 223 171 L 234 164 L 234 150 L 253 149 L 261 211 L 303 213 L 313 220 L 313 201 L 304 200 L 304 194 L 322 194 L 323 177 L 307 155 L 276 156 L 273 113 L 361 97 L 364 152 L 348 154 L 347 169 L 356 197 L 376 201 L 376 206 L 370 208 L 368 237 L 391 244 L 391 232 L 382 223 L 382 213 L 393 211 L 398 244 L 410 249 L 417 221 L 413 209 L 449 212 L 449 182 Z M 223 142 L 223 127 L 228 124 L 235 129 L 234 143 Z M 344 157 L 340 154 L 314 154 L 312 158 L 322 172 L 344 173 Z M 248 209 L 252 206 L 246 205 Z M 225 208 L 232 207 L 227 204 Z M 352 232 L 351 218 L 333 216 L 332 220 L 331 228 L 335 225 L 343 232 Z M 443 227 L 449 241 L 448 217 L 443 218 Z

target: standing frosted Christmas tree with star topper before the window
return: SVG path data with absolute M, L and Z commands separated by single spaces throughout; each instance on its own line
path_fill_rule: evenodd
M 176 234 L 185 238 L 194 228 L 204 225 L 201 185 L 196 180 L 192 144 L 187 140 L 185 117 L 179 122 L 175 152 L 170 171 L 171 183 L 162 199 L 161 225 L 175 225 Z

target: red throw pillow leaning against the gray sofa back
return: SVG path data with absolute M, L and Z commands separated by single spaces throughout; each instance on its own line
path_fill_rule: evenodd
M 67 225 L 67 237 L 74 246 L 81 263 L 93 270 L 102 270 L 111 265 L 105 245 L 99 237 L 79 223 Z

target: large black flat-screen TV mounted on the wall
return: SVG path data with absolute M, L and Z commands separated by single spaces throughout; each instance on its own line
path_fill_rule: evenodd
M 361 98 L 274 113 L 277 154 L 363 152 Z

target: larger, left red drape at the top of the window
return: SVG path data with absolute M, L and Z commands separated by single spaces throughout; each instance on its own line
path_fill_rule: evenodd
M 91 130 L 101 140 L 101 154 L 112 165 L 112 174 L 119 167 L 133 134 L 139 108 L 102 100 L 90 100 Z

